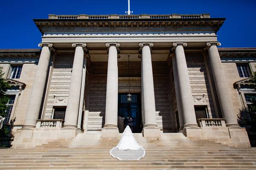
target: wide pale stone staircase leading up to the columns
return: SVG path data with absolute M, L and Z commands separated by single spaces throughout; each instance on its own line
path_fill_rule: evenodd
M 109 151 L 116 140 L 103 140 L 100 133 L 80 133 L 32 149 L 0 149 L 0 170 L 63 169 L 256 169 L 256 148 L 235 148 L 208 140 L 186 138 L 182 133 L 162 133 L 157 141 L 134 136 L 144 147 L 141 160 L 120 161 Z

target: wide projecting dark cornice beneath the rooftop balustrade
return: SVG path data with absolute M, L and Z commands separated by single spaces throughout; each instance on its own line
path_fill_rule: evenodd
M 224 23 L 223 18 L 181 19 L 46 19 L 34 20 L 42 34 L 45 32 L 121 32 L 121 31 L 215 31 Z

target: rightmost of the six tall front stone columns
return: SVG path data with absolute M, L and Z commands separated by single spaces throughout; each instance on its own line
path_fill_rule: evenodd
M 213 79 L 216 86 L 216 91 L 221 106 L 221 112 L 226 119 L 227 127 L 239 127 L 236 115 L 233 111 L 233 103 L 230 96 L 230 89 L 227 85 L 227 80 L 221 66 L 221 58 L 218 53 L 217 45 L 220 42 L 207 42 L 209 59 L 212 67 Z

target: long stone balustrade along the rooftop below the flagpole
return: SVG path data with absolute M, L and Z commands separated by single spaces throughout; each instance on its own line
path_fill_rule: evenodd
M 48 19 L 167 19 L 167 18 L 210 18 L 210 14 L 170 14 L 170 15 L 55 15 L 49 14 Z

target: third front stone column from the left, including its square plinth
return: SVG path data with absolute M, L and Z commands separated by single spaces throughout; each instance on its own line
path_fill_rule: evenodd
M 106 43 L 108 47 L 108 75 L 106 91 L 105 125 L 102 128 L 102 138 L 117 137 L 117 107 L 118 107 L 118 67 L 117 47 L 119 43 Z

